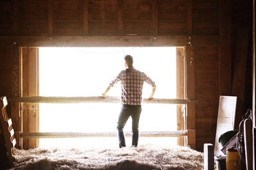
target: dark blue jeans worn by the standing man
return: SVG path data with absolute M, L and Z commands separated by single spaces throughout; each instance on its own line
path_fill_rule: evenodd
M 131 106 L 123 104 L 118 117 L 118 141 L 119 147 L 125 147 L 125 135 L 122 131 L 129 117 L 132 119 L 132 141 L 131 146 L 138 145 L 138 123 L 140 121 L 141 105 Z

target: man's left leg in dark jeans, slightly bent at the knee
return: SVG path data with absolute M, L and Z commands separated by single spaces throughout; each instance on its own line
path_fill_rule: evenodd
M 122 129 L 125 126 L 125 123 L 127 122 L 127 120 L 129 119 L 130 114 L 129 114 L 129 108 L 127 108 L 126 105 L 122 105 L 119 117 L 118 117 L 118 125 L 117 125 L 117 129 L 118 129 L 118 141 L 119 141 L 119 147 L 125 147 L 125 135 L 124 132 L 122 131 Z

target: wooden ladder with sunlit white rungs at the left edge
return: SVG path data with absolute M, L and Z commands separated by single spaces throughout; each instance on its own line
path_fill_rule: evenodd
M 1 108 L 1 125 L 3 128 L 3 136 L 6 141 L 6 148 L 8 154 L 8 161 L 10 166 L 13 164 L 13 157 L 12 157 L 12 149 L 16 145 L 16 139 L 14 137 L 14 129 L 12 128 L 12 119 L 8 118 L 8 114 L 6 112 L 6 106 L 8 105 L 6 97 L 1 97 L 0 100 L 0 108 Z

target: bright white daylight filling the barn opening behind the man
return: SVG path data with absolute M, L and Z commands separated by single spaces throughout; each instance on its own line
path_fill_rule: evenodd
M 41 47 L 39 95 L 99 96 L 109 82 L 125 69 L 125 54 L 134 56 L 134 67 L 156 82 L 154 97 L 176 98 L 175 47 Z M 108 95 L 120 96 L 120 90 L 120 84 L 116 84 Z M 145 84 L 143 97 L 149 97 L 150 93 L 151 86 Z M 40 132 L 116 132 L 120 104 L 40 104 L 39 112 Z M 142 106 L 140 131 L 176 130 L 176 124 L 175 105 Z M 131 131 L 130 119 L 125 131 Z M 41 139 L 40 147 L 52 147 L 54 140 Z M 83 140 L 83 143 L 90 141 L 88 138 Z M 171 140 L 176 144 L 176 138 Z M 65 139 L 61 141 L 64 143 Z M 52 145 L 49 146 L 49 143 Z

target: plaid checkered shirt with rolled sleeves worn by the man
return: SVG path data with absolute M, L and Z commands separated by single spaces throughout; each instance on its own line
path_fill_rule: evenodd
M 109 84 L 111 88 L 118 81 L 121 82 L 122 87 L 122 104 L 127 105 L 140 105 L 142 103 L 142 88 L 144 82 L 147 82 L 152 87 L 156 86 L 155 82 L 151 80 L 145 73 L 131 67 L 129 69 L 122 70 L 114 80 Z

